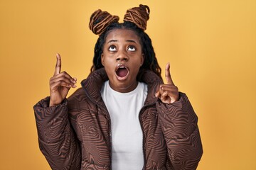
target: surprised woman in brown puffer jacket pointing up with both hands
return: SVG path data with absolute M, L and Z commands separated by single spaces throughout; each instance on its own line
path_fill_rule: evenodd
M 50 97 L 34 106 L 41 152 L 52 169 L 196 169 L 203 153 L 194 113 L 166 65 L 166 82 L 146 30 L 149 7 L 119 17 L 97 10 L 100 35 L 91 74 L 66 99 L 76 79 L 60 72 Z

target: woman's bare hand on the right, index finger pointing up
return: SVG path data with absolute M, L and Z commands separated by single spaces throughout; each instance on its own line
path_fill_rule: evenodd
M 161 84 L 159 91 L 156 92 L 156 97 L 163 103 L 174 103 L 178 101 L 178 87 L 174 85 L 174 81 L 171 79 L 170 64 L 166 64 L 165 77 L 167 84 Z

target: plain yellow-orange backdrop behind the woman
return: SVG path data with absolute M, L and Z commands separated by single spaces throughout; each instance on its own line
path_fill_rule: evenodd
M 49 94 L 55 53 L 82 81 L 97 40 L 88 28 L 92 12 L 122 20 L 139 4 L 151 8 L 146 33 L 159 64 L 171 62 L 174 83 L 199 117 L 198 169 L 256 169 L 255 0 L 0 0 L 0 169 L 50 169 L 33 105 Z

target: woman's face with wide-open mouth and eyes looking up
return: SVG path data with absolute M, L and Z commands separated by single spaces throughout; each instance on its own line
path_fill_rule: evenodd
M 101 56 L 110 86 L 127 93 L 137 87 L 137 74 L 144 62 L 142 45 L 133 30 L 115 29 L 107 35 Z

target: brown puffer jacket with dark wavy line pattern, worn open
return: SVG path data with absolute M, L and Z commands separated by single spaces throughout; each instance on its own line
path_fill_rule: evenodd
M 107 79 L 105 69 L 98 69 L 60 105 L 49 107 L 47 97 L 34 106 L 39 147 L 52 169 L 111 169 L 111 120 L 100 95 Z M 146 71 L 142 81 L 148 85 L 139 113 L 144 169 L 196 169 L 203 149 L 186 94 L 162 103 L 154 96 L 161 79 Z

